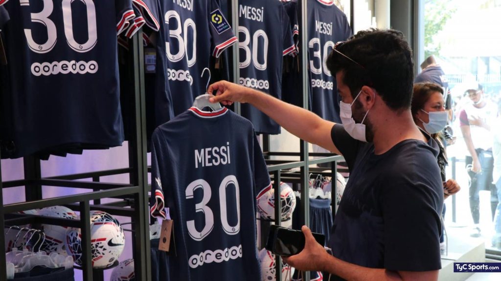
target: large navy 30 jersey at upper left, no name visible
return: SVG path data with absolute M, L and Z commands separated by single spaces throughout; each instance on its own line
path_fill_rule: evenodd
M 121 145 L 117 33 L 134 17 L 131 0 L 0 5 L 10 16 L 0 26 L 9 62 L 0 69 L 2 156 Z

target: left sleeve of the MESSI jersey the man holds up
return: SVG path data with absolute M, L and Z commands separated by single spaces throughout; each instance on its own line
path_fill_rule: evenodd
M 165 219 L 165 201 L 163 196 L 162 182 L 167 184 L 168 173 L 163 166 L 162 159 L 168 159 L 166 151 L 161 149 L 161 135 L 153 132 L 151 145 L 151 197 L 150 214 L 153 217 Z

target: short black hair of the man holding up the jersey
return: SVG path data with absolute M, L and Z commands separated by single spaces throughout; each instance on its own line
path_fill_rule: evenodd
M 353 97 L 362 86 L 368 85 L 376 89 L 390 108 L 410 108 L 414 61 L 401 31 L 374 28 L 359 31 L 336 49 L 362 65 L 335 50 L 327 58 L 327 68 L 333 75 L 344 71 L 343 83 Z

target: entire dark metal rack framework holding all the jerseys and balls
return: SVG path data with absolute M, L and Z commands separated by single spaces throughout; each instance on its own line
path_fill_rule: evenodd
M 351 25 L 353 26 L 353 0 L 351 5 Z M 238 26 L 238 0 L 228 0 L 228 18 L 231 26 Z M 300 44 L 308 45 L 307 34 L 307 0 L 298 0 L 299 7 L 299 30 Z M 235 32 L 238 37 L 238 32 Z M 238 83 L 238 45 L 233 45 L 229 51 L 229 65 L 231 81 Z M 134 96 L 131 104 L 134 110 L 134 134 L 133 139 L 129 140 L 129 166 L 126 168 L 103 170 L 95 172 L 86 172 L 69 175 L 58 175 L 52 177 L 42 177 L 40 160 L 35 157 L 24 158 L 25 178 L 3 182 L 0 173 L 0 188 L 9 188 L 15 186 L 25 186 L 26 201 L 13 204 L 3 204 L 3 193 L 0 192 L 0 228 L 5 229 L 6 225 L 28 224 L 28 223 L 50 223 L 70 227 L 80 227 L 82 229 L 82 248 L 83 248 L 83 279 L 84 280 L 103 280 L 103 270 L 93 270 L 91 262 L 91 243 L 90 243 L 90 220 L 89 212 L 91 209 L 101 209 L 112 215 L 122 215 L 131 217 L 133 233 L 133 258 L 135 265 L 136 279 L 150 281 L 149 268 L 150 243 L 148 222 L 148 191 L 150 189 L 147 181 L 147 150 L 146 150 L 146 114 L 145 114 L 145 90 L 144 90 L 144 53 L 142 44 L 142 31 L 139 30 L 132 38 L 131 67 L 134 69 Z M 308 48 L 302 47 L 299 53 L 301 66 L 301 87 L 303 92 L 303 108 L 308 108 Z M 240 105 L 234 104 L 234 111 L 240 113 Z M 336 177 L 338 161 L 343 157 L 330 153 L 309 153 L 308 143 L 300 140 L 300 152 L 274 152 L 270 151 L 270 139 L 268 135 L 263 137 L 263 151 L 268 159 L 268 171 L 275 180 L 275 223 L 280 225 L 281 221 L 281 202 L 280 202 L 280 181 L 281 178 L 287 179 L 294 184 L 309 186 L 310 165 L 332 162 L 331 175 Z M 271 156 L 296 156 L 299 160 L 271 160 Z M 322 158 L 310 159 L 310 156 L 322 156 Z M 290 168 L 300 168 L 300 172 L 285 173 Z M 0 172 L 2 167 L 0 165 Z M 129 183 L 107 183 L 102 182 L 102 176 L 129 174 Z M 92 178 L 92 181 L 83 181 L 81 179 Z M 87 188 L 89 192 L 62 197 L 44 199 L 42 194 L 42 185 L 62 186 L 72 188 Z M 335 202 L 336 181 L 333 181 L 333 200 Z M 308 198 L 308 188 L 301 189 L 301 196 Z M 103 198 L 120 198 L 122 200 L 112 203 L 101 203 Z M 92 201 L 92 203 L 91 203 Z M 78 210 L 81 213 L 80 220 L 49 218 L 38 215 L 16 214 L 17 211 L 29 210 L 34 208 L 43 208 L 54 205 L 65 205 L 71 209 Z M 309 221 L 309 200 L 302 200 L 300 211 L 300 221 L 302 224 L 310 225 Z M 334 208 L 333 208 L 333 211 Z M 262 221 L 261 237 L 262 241 L 268 236 L 269 223 Z M 0 240 L 5 240 L 5 232 L 0 233 Z M 5 252 L 5 244 L 0 244 L 0 250 Z M 281 257 L 276 257 L 276 278 L 282 280 Z M 5 264 L 5 255 L 0 254 L 0 264 Z M 7 279 L 7 272 L 4 266 L 0 269 L 0 280 Z M 309 274 L 304 274 L 303 280 L 309 281 Z

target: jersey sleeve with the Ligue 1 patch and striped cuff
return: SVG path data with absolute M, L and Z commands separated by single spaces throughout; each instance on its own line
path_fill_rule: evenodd
M 219 57 L 221 52 L 238 40 L 224 17 L 221 8 L 215 0 L 210 0 L 208 12 L 208 24 L 211 36 L 212 55 Z

